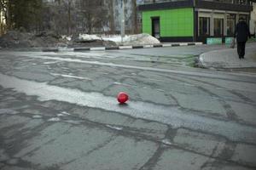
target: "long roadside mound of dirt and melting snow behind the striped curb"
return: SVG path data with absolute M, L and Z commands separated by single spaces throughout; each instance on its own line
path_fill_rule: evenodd
M 160 41 L 149 34 L 120 35 L 89 35 L 76 34 L 73 36 L 59 36 L 51 31 L 38 34 L 9 31 L 0 37 L 1 48 L 39 48 L 39 47 L 114 47 L 118 45 L 148 45 L 158 44 Z

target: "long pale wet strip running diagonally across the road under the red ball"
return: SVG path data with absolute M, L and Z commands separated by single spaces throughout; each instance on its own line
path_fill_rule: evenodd
M 172 127 L 187 127 L 206 133 L 219 134 L 234 141 L 256 144 L 256 128 L 254 127 L 194 115 L 180 111 L 177 107 L 133 101 L 129 101 L 128 105 L 118 105 L 115 98 L 103 94 L 84 93 L 78 89 L 60 88 L 48 85 L 45 82 L 21 80 L 3 74 L 0 74 L 0 85 L 3 88 L 14 88 L 17 92 L 26 95 L 36 95 L 41 101 L 58 100 L 91 108 L 100 108 L 128 116 L 162 122 Z

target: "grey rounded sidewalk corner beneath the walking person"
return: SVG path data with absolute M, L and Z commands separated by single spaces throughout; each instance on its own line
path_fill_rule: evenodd
M 245 59 L 239 59 L 236 48 L 201 54 L 199 65 L 204 68 L 256 68 L 256 42 L 247 43 Z

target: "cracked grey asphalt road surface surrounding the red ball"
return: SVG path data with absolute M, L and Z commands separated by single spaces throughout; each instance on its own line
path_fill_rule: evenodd
M 0 169 L 255 169 L 256 76 L 193 67 L 220 48 L 0 51 Z

